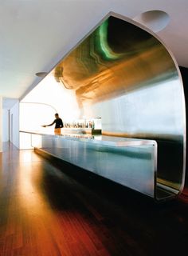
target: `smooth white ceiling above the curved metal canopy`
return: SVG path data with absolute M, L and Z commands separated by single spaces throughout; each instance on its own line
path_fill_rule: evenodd
M 0 0 L 0 95 L 22 98 L 108 12 L 133 19 L 148 10 L 169 15 L 157 34 L 188 67 L 188 0 Z

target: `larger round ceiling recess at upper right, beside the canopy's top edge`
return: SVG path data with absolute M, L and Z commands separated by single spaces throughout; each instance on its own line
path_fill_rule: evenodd
M 170 17 L 162 10 L 149 10 L 139 14 L 134 20 L 154 32 L 159 32 L 167 26 Z

